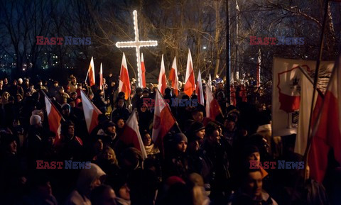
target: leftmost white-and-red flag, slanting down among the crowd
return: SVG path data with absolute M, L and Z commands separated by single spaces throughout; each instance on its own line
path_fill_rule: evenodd
M 60 141 L 60 121 L 62 119 L 62 115 L 59 113 L 58 109 L 55 108 L 55 105 L 51 103 L 48 96 L 45 95 L 45 106 L 46 113 L 48 114 L 48 126 L 50 131 L 55 133 L 55 144 Z

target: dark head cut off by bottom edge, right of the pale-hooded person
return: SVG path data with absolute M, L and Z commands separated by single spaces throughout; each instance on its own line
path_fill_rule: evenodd
M 117 205 L 114 189 L 108 185 L 100 185 L 92 190 L 90 200 L 92 205 Z

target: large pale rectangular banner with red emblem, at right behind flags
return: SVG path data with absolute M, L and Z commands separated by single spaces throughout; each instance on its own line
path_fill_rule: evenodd
M 313 75 L 315 65 L 316 62 L 313 60 L 274 58 L 272 78 L 272 131 L 274 136 L 297 133 L 297 123 L 293 123 L 296 118 L 293 118 L 292 113 L 300 109 L 303 74 L 299 66 L 309 75 Z M 332 68 L 333 65 L 334 62 L 321 62 L 321 67 Z M 323 85 L 319 84 L 319 86 Z

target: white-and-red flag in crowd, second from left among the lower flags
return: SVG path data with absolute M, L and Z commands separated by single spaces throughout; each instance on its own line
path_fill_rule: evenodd
M 98 116 L 99 114 L 102 114 L 102 112 L 92 104 L 82 90 L 80 90 L 80 96 L 83 104 L 85 122 L 87 123 L 87 131 L 91 133 L 92 129 L 98 125 Z

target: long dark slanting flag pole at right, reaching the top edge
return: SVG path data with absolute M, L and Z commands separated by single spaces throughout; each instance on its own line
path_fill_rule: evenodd
M 322 54 L 323 54 L 323 41 L 325 38 L 325 27 L 327 25 L 328 4 L 329 4 L 329 0 L 325 0 L 325 16 L 323 17 L 322 31 L 321 31 L 321 35 L 320 35 L 320 50 L 319 50 L 318 60 L 316 61 L 316 67 L 315 67 L 313 99 L 311 99 L 312 103 L 311 103 L 311 108 L 310 108 L 307 148 L 305 148 L 305 153 L 304 153 L 304 170 L 307 169 L 308 155 L 309 155 L 311 142 L 312 142 L 312 138 L 313 138 L 313 136 L 310 136 L 310 134 L 311 134 L 311 131 L 310 131 L 310 129 L 311 129 L 311 118 L 313 116 L 315 91 L 316 91 L 317 86 L 318 86 L 318 72 L 320 70 L 320 61 L 322 60 Z M 305 174 L 304 174 L 304 176 L 305 176 Z M 306 177 L 304 177 L 304 179 L 306 180 Z

